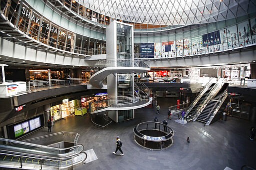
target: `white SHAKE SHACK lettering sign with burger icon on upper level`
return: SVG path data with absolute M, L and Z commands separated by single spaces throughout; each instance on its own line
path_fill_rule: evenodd
M 23 14 L 23 17 L 26 17 L 26 18 L 29 19 L 31 12 L 29 10 L 27 10 L 26 7 L 23 6 L 22 10 L 21 10 L 21 14 Z M 43 20 L 41 21 L 41 18 L 39 16 L 35 16 L 34 13 L 31 16 L 31 21 L 33 21 L 35 24 L 38 24 L 38 25 L 40 25 L 40 23 L 41 23 L 41 28 L 45 27 L 50 32 L 57 33 L 60 36 L 66 37 L 66 32 L 65 31 L 62 31 L 62 30 L 60 30 L 58 28 L 55 28 L 53 26 L 50 27 L 49 23 L 45 23 Z M 71 34 L 67 34 L 67 38 L 70 39 Z

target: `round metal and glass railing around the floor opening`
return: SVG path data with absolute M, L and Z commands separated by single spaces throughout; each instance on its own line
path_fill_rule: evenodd
M 173 144 L 174 131 L 159 122 L 142 122 L 133 128 L 134 141 L 143 148 L 164 150 Z

